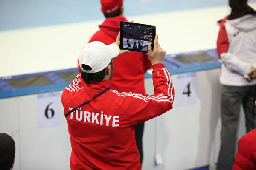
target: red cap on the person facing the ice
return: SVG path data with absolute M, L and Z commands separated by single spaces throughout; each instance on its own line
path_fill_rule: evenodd
M 123 0 L 100 0 L 102 12 L 110 14 L 121 8 Z

